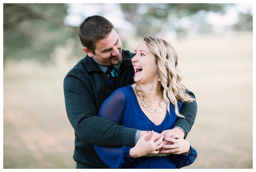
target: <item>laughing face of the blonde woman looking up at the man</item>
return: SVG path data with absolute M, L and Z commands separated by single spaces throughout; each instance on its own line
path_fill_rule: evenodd
M 158 81 L 159 75 L 156 68 L 156 57 L 147 47 L 146 42 L 141 42 L 134 52 L 132 65 L 134 67 L 134 81 L 140 84 Z

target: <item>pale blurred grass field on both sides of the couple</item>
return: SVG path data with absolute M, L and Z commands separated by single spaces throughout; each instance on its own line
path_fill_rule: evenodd
M 187 137 L 198 157 L 185 168 L 252 168 L 252 32 L 170 43 L 198 105 Z M 4 64 L 4 168 L 76 167 L 63 79 L 78 60 L 57 59 Z

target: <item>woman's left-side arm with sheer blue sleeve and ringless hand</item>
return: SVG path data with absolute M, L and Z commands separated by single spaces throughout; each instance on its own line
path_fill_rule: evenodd
M 108 118 L 121 125 L 123 120 L 125 97 L 121 90 L 116 90 L 101 106 L 99 116 Z M 150 135 L 151 134 L 151 135 Z M 150 139 L 146 141 L 147 136 Z M 163 135 L 155 141 L 156 134 L 154 131 L 146 132 L 141 135 L 135 147 L 100 147 L 94 145 L 96 153 L 100 159 L 111 168 L 122 168 L 134 161 L 134 158 L 146 155 L 157 154 L 163 144 Z

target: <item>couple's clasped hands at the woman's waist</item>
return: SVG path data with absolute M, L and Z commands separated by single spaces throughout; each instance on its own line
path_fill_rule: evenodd
M 137 158 L 146 154 L 183 154 L 190 149 L 188 141 L 182 136 L 173 134 L 174 129 L 162 133 L 154 131 L 142 132 L 136 145 L 131 148 L 129 156 Z

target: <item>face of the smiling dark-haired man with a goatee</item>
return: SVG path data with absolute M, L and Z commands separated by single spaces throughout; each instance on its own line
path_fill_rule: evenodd
M 97 41 L 95 45 L 93 57 L 101 65 L 118 65 L 122 62 L 122 42 L 114 29 L 107 38 Z

